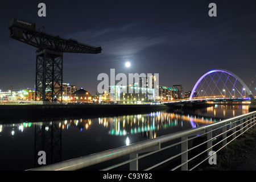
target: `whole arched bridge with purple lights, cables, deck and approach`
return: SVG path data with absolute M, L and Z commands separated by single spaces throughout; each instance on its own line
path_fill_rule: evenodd
M 188 99 L 165 102 L 166 105 L 205 101 L 250 100 L 250 107 L 256 107 L 251 90 L 240 77 L 225 69 L 215 69 L 197 80 Z

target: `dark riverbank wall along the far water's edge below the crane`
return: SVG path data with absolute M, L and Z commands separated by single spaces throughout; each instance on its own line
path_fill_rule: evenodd
M 168 110 L 160 105 L 0 105 L 0 118 L 70 117 L 92 115 L 142 114 Z

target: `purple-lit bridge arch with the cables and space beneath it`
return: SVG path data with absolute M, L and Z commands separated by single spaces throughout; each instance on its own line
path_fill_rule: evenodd
M 225 69 L 209 71 L 201 76 L 193 87 L 189 100 L 196 97 L 206 98 L 212 96 L 223 98 L 250 97 L 251 101 L 255 100 L 245 82 Z

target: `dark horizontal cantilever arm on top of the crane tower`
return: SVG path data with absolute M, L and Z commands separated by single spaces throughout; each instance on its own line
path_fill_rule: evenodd
M 12 19 L 9 26 L 10 38 L 19 40 L 38 49 L 50 49 L 70 53 L 101 53 L 101 47 L 82 44 L 73 39 L 64 39 L 44 32 L 36 31 L 35 27 L 26 27 L 32 23 Z M 18 23 L 17 23 L 18 22 Z M 32 24 L 33 25 L 33 24 Z

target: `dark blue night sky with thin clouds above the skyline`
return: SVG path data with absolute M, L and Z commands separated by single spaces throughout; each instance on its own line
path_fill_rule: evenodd
M 46 17 L 38 4 L 46 4 Z M 210 17 L 209 3 L 217 17 Z M 11 17 L 48 34 L 102 47 L 64 53 L 63 82 L 96 94 L 100 73 L 159 73 L 184 92 L 212 69 L 238 75 L 256 95 L 256 1 L 6 1 L 0 3 L 0 89 L 35 87 L 35 47 L 9 37 Z M 129 60 L 131 67 L 125 68 Z

